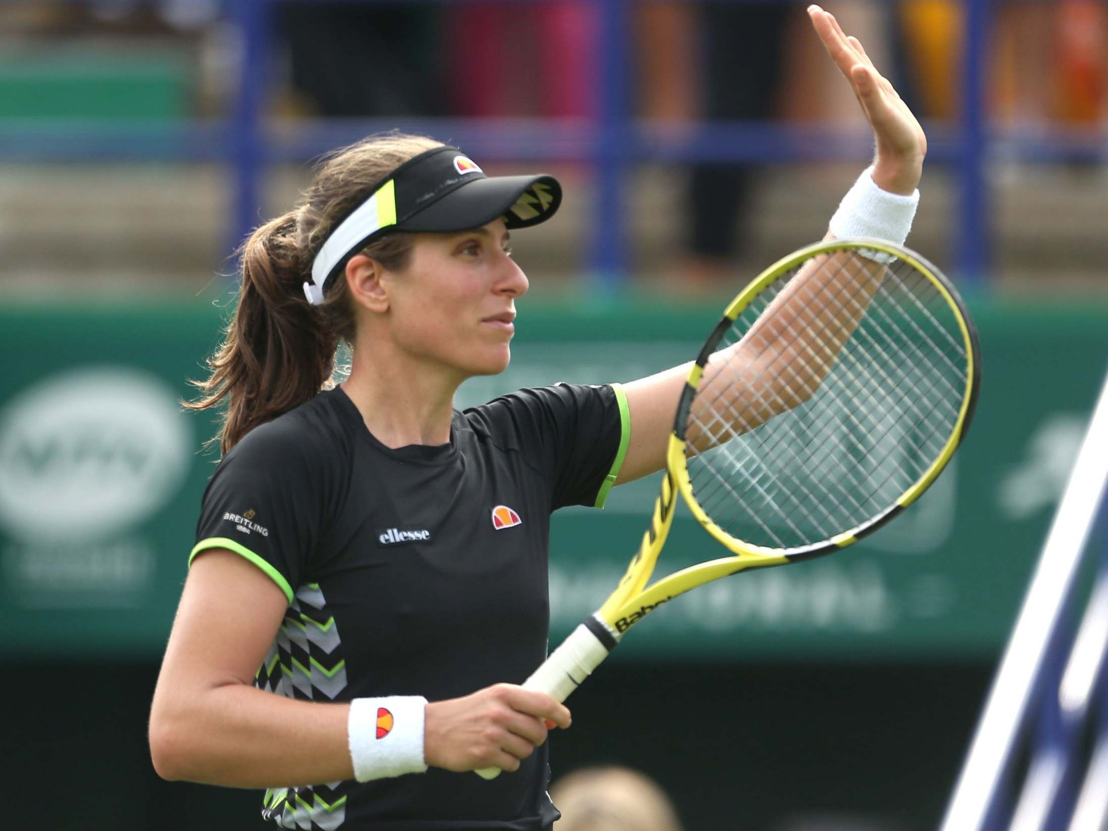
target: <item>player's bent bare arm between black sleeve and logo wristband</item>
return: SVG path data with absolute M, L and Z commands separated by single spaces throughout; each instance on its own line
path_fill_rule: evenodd
M 212 550 L 196 558 L 151 708 L 160 776 L 240 788 L 353 777 L 349 705 L 296 701 L 252 686 L 287 606 L 284 592 L 239 555 Z

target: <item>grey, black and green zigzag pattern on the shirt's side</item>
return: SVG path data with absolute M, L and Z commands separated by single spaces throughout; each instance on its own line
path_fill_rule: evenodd
M 286 698 L 335 700 L 346 689 L 346 659 L 335 617 L 319 584 L 297 589 L 254 681 Z M 351 782 L 267 790 L 261 817 L 279 828 L 336 831 L 346 821 Z

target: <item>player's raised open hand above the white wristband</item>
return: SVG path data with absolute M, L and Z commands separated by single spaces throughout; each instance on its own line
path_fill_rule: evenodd
M 834 16 L 809 6 L 808 16 L 839 71 L 850 81 L 876 141 L 873 181 L 891 193 L 911 194 L 923 174 L 927 137 L 907 109 L 865 53 L 858 38 L 842 31 Z

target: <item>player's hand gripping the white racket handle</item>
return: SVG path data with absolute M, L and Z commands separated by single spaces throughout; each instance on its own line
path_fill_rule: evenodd
M 550 727 L 570 726 L 570 710 L 545 693 L 495 684 L 463 698 L 432 701 L 423 720 L 423 760 L 456 772 L 519 770 L 546 741 Z

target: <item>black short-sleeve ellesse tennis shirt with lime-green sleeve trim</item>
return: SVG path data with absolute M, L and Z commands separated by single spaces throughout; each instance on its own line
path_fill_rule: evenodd
M 269 691 L 434 701 L 520 684 L 546 655 L 550 515 L 603 506 L 628 438 L 617 384 L 557 384 L 455 411 L 448 444 L 389 449 L 337 388 L 220 461 L 189 562 L 229 548 L 285 592 L 256 680 Z M 544 745 L 493 781 L 432 768 L 281 788 L 263 815 L 328 831 L 538 831 L 557 818 L 548 779 Z

